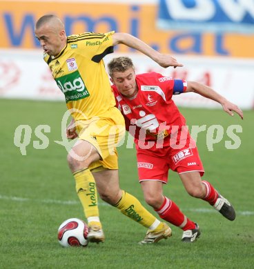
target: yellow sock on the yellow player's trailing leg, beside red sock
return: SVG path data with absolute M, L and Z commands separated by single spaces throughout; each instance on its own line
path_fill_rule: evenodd
M 163 223 L 148 212 L 137 198 L 124 190 L 121 199 L 115 204 L 115 207 L 130 219 L 137 221 L 149 230 L 153 230 L 153 232 L 162 230 Z

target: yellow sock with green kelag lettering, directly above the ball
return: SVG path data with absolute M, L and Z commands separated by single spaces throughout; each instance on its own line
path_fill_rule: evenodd
M 97 189 L 95 179 L 88 168 L 73 173 L 76 181 L 76 191 L 88 219 L 88 225 L 97 225 L 101 228 L 99 221 L 99 208 L 97 200 Z

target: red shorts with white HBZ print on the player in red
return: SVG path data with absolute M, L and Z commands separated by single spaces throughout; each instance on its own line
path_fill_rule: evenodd
M 195 141 L 192 142 L 195 145 Z M 150 150 L 136 147 L 136 150 L 139 182 L 157 180 L 167 183 L 169 169 L 178 174 L 197 171 L 201 176 L 204 175 L 197 148 L 190 147 L 189 144 L 180 149 L 164 146 L 164 148 L 153 147 Z

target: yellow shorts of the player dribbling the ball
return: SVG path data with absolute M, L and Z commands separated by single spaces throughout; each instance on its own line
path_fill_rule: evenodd
M 125 135 L 124 117 L 117 108 L 110 108 L 102 117 L 92 117 L 88 121 L 77 124 L 79 139 L 88 141 L 101 156 L 89 169 L 103 166 L 108 169 L 118 169 L 116 146 Z

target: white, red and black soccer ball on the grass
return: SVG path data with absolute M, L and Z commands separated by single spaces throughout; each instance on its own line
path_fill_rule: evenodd
M 61 246 L 87 246 L 88 225 L 81 219 L 67 219 L 58 229 L 58 241 Z

